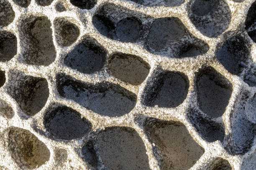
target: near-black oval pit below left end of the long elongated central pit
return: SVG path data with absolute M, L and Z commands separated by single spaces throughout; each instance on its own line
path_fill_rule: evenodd
M 44 115 L 44 126 L 53 138 L 72 140 L 89 133 L 92 125 L 79 112 L 67 107 L 58 106 L 49 109 Z

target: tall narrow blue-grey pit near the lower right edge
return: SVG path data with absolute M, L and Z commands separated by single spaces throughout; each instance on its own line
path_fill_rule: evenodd
M 250 107 L 255 107 L 255 105 L 253 103 L 247 105 L 249 102 L 251 100 L 248 99 L 248 92 L 241 92 L 241 97 L 237 99 L 236 107 L 231 115 L 233 117 L 231 121 L 233 132 L 230 134 L 231 140 L 226 147 L 230 154 L 243 155 L 250 150 L 253 144 L 253 138 L 256 135 L 256 124 L 251 122 L 251 117 L 247 117 L 247 115 L 255 115 L 255 112 L 250 110 Z

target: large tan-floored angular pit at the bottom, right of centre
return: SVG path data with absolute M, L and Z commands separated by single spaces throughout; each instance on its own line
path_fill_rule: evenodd
M 205 152 L 180 122 L 148 119 L 144 126 L 150 140 L 160 151 L 161 170 L 187 170 Z

